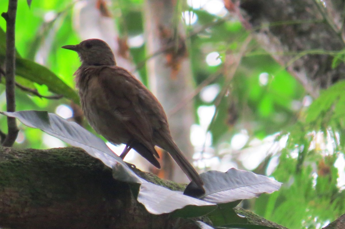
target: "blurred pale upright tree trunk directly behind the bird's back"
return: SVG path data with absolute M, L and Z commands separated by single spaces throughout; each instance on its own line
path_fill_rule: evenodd
M 191 161 L 194 154 L 190 143 L 190 127 L 194 123 L 193 104 L 189 103 L 180 111 L 169 115 L 169 112 L 183 101 L 193 89 L 193 80 L 189 59 L 186 58 L 186 46 L 181 31 L 183 26 L 178 17 L 174 24 L 176 1 L 145 1 L 145 32 L 147 51 L 150 54 L 161 52 L 147 63 L 150 89 L 161 102 L 168 116 L 172 138 L 182 152 Z M 178 15 L 180 16 L 180 15 Z M 181 29 L 182 28 L 182 29 Z M 169 157 L 170 159 L 170 157 Z M 164 163 L 164 162 L 163 162 Z M 186 182 L 184 173 L 175 168 L 167 168 L 164 177 L 177 182 Z M 169 174 L 173 172 L 173 174 Z

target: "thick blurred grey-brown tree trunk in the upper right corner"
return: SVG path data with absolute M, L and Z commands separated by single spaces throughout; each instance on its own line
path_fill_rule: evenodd
M 324 4 L 323 4 L 324 2 Z M 344 79 L 332 67 L 344 48 L 344 1 L 242 0 L 242 21 L 257 42 L 316 98 L 321 88 Z

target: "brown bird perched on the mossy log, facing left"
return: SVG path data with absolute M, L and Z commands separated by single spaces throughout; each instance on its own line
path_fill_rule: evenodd
M 108 44 L 89 39 L 62 48 L 76 51 L 81 66 L 74 73 L 82 110 L 93 129 L 113 144 L 126 144 L 120 157 L 135 149 L 160 168 L 155 145 L 169 152 L 191 181 L 203 181 L 172 140 L 157 98 L 126 69 L 116 66 Z

